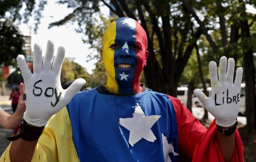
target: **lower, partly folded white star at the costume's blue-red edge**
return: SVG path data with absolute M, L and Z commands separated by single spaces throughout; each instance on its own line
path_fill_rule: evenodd
M 162 133 L 162 143 L 163 143 L 163 151 L 164 151 L 164 161 L 165 162 L 172 162 L 169 157 L 169 153 L 173 153 L 174 156 L 179 155 L 174 152 L 174 148 L 172 144 L 169 144 L 167 138 Z

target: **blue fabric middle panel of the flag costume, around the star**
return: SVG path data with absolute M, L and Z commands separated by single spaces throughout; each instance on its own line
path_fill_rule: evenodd
M 119 124 L 119 118 L 132 118 L 136 103 L 146 116 L 161 117 L 151 128 L 156 141 L 142 138 L 132 147 L 128 143 L 130 131 Z M 80 161 L 164 161 L 162 133 L 177 152 L 175 111 L 165 94 L 147 89 L 132 96 L 115 96 L 100 94 L 94 88 L 77 93 L 67 110 Z M 172 162 L 177 161 L 177 156 L 169 156 Z

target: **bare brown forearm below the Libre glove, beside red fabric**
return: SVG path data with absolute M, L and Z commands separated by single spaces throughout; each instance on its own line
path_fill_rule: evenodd
M 232 127 L 233 126 L 230 126 L 228 128 L 223 127 L 223 129 L 229 129 Z M 233 133 L 230 136 L 225 136 L 221 132 L 216 131 L 216 138 L 224 160 L 230 161 L 230 159 L 233 156 L 235 148 L 235 133 Z

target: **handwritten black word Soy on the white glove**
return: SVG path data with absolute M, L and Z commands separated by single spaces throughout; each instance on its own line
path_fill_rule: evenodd
M 43 91 L 42 88 L 36 86 L 36 84 L 39 83 L 39 82 L 42 82 L 42 80 L 38 80 L 34 84 L 33 94 L 35 96 L 41 96 L 42 95 L 42 91 Z M 35 89 L 40 89 L 40 93 L 39 94 L 35 94 Z M 50 93 L 48 93 L 48 91 Z M 48 88 L 45 89 L 45 93 L 44 93 L 45 97 L 52 97 L 53 94 L 55 95 L 56 102 L 54 104 L 51 102 L 51 106 L 55 107 L 57 105 L 57 103 L 59 102 L 59 100 L 60 100 L 60 96 L 61 96 L 62 92 L 60 91 L 60 94 L 58 95 L 58 92 L 57 92 L 56 88 L 48 87 Z

